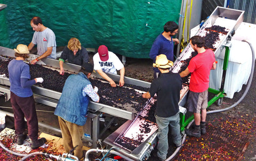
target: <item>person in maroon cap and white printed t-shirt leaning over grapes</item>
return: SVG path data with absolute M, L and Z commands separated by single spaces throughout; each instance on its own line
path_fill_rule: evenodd
M 116 83 L 106 73 L 117 74 L 116 70 L 120 70 L 119 86 L 124 86 L 124 65 L 113 52 L 108 51 L 107 46 L 99 46 L 98 53 L 93 56 L 93 63 L 94 70 L 109 81 L 111 87 L 116 87 Z

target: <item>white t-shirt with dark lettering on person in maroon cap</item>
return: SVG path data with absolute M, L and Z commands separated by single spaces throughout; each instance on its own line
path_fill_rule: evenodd
M 124 65 L 113 52 L 108 52 L 108 60 L 103 62 L 100 60 L 99 53 L 93 56 L 94 70 L 102 69 L 105 73 L 117 74 L 116 70 L 121 70 Z

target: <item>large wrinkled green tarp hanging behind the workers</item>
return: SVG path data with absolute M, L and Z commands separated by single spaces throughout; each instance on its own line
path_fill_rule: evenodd
M 57 46 L 76 37 L 85 48 L 106 45 L 111 52 L 148 58 L 155 38 L 167 21 L 178 23 L 182 0 L 167 1 L 32 1 L 0 0 L 0 46 L 28 45 L 33 37 L 30 20 L 41 17 L 53 30 Z

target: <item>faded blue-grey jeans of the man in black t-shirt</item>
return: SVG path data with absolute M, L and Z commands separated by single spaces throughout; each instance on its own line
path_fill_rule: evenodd
M 166 159 L 168 145 L 168 131 L 171 126 L 171 134 L 173 142 L 176 146 L 181 145 L 181 134 L 180 134 L 180 114 L 179 112 L 171 117 L 159 117 L 155 115 L 156 123 L 158 125 L 158 145 L 157 145 L 157 156 L 161 159 Z

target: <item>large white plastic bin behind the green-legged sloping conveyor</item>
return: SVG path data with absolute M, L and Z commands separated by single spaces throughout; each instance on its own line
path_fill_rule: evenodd
M 231 40 L 231 48 L 229 54 L 229 62 L 226 73 L 226 81 L 224 90 L 227 94 L 226 97 L 233 98 L 235 92 L 239 92 L 242 89 L 243 84 L 247 84 L 247 81 L 251 74 L 252 66 L 252 52 L 251 47 L 246 40 L 256 50 L 256 24 L 242 22 L 235 31 L 235 35 Z M 221 86 L 223 60 L 225 56 L 225 50 L 222 50 L 220 55 L 215 55 L 217 63 L 216 70 L 211 71 L 210 75 L 210 88 L 219 90 Z M 254 60 L 255 61 L 255 60 Z

